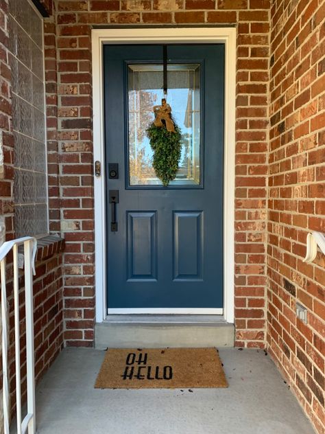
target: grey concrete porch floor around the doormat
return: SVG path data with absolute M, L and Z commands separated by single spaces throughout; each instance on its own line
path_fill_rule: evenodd
M 312 434 L 263 350 L 219 350 L 228 389 L 101 390 L 105 352 L 67 348 L 36 392 L 40 434 Z

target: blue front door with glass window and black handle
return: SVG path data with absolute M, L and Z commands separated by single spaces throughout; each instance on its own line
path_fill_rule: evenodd
M 162 58 L 161 45 L 104 47 L 108 312 L 221 312 L 224 45 L 167 47 L 167 102 L 182 133 L 168 187 L 146 135 Z

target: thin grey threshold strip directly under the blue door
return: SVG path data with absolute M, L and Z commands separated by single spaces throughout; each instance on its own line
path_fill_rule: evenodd
M 108 315 L 105 323 L 132 324 L 206 324 L 226 323 L 223 315 Z

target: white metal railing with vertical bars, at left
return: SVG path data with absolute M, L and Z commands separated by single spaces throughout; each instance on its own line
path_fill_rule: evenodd
M 27 358 L 27 415 L 21 420 L 21 348 L 19 319 L 19 253 L 24 246 L 25 262 L 25 321 L 26 321 L 26 358 Z M 3 424 L 4 433 L 9 434 L 9 378 L 8 378 L 8 308 L 5 284 L 6 257 L 13 250 L 14 255 L 14 338 L 16 358 L 16 419 L 17 434 L 34 434 L 35 423 L 35 375 L 34 375 L 34 308 L 33 273 L 35 274 L 36 238 L 23 237 L 6 241 L 0 247 L 1 269 L 1 314 L 2 314 L 2 365 L 3 365 Z

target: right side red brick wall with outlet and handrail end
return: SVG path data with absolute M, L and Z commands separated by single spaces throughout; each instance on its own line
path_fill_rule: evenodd
M 302 262 L 308 231 L 325 232 L 325 4 L 272 5 L 269 352 L 319 433 L 325 430 L 325 268 Z M 296 319 L 296 301 L 308 323 Z

